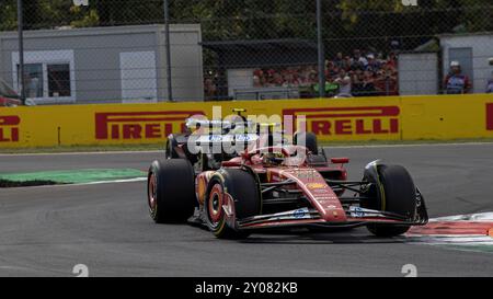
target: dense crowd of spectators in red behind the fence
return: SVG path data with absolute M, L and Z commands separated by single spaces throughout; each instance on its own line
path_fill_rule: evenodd
M 351 56 L 337 53 L 325 60 L 325 94 L 328 96 L 398 95 L 397 56 L 391 53 L 365 53 L 355 49 Z M 319 92 L 316 66 L 256 69 L 254 88 L 300 88 Z

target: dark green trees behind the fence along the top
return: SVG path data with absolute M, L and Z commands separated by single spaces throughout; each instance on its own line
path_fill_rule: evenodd
M 413 47 L 461 28 L 493 30 L 491 0 L 322 0 L 329 44 L 401 38 Z M 15 30 L 15 0 L 0 1 L 0 31 Z M 163 22 L 163 0 L 25 0 L 25 28 L 110 26 Z M 316 38 L 316 0 L 170 0 L 174 23 L 199 23 L 206 41 Z M 380 42 L 376 42 L 380 41 Z M 386 42 L 387 43 L 387 42 Z M 405 44 L 404 43 L 404 44 Z

